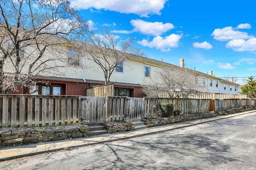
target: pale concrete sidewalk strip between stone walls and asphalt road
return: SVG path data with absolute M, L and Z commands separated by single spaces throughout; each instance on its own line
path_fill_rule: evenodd
M 169 125 L 162 125 L 162 126 L 151 127 L 146 129 L 139 129 L 136 131 L 130 131 L 130 132 L 124 132 L 124 133 L 106 134 L 106 135 L 100 135 L 100 136 L 94 136 L 94 137 L 85 137 L 85 138 L 64 140 L 64 141 L 53 141 L 53 142 L 47 142 L 47 143 L 22 145 L 22 146 L 16 146 L 16 147 L 6 147 L 6 148 L 0 149 L 0 161 L 12 160 L 14 158 L 22 158 L 25 156 L 32 156 L 32 155 L 42 154 L 46 152 L 54 152 L 57 150 L 70 150 L 72 148 L 77 148 L 77 147 L 84 147 L 88 145 L 95 145 L 95 144 L 101 144 L 101 143 L 110 143 L 112 141 L 120 141 L 124 139 L 131 139 L 135 137 L 152 135 L 156 133 L 172 131 L 174 129 L 190 127 L 190 126 L 199 125 L 202 123 L 207 123 L 207 122 L 216 121 L 220 119 L 226 119 L 229 117 L 244 115 L 244 114 L 253 113 L 253 112 L 255 112 L 255 110 L 241 112 L 241 113 L 234 113 L 231 115 L 210 117 L 206 119 L 185 121 L 185 122 L 169 124 Z

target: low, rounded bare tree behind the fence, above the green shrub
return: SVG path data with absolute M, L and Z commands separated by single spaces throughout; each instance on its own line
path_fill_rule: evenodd
M 198 94 L 207 92 L 202 78 L 188 68 L 156 70 L 142 82 L 143 91 L 149 96 L 180 97 L 183 94 Z

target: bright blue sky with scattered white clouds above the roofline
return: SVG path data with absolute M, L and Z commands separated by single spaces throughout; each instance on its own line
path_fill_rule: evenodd
M 136 37 L 146 57 L 240 84 L 256 76 L 255 0 L 70 0 L 91 29 Z

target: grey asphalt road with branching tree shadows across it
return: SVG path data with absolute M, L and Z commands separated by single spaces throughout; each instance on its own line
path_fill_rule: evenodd
M 256 170 L 256 112 L 0 163 L 1 170 Z

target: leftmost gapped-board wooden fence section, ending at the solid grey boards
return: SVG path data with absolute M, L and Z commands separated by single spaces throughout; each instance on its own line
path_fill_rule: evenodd
M 78 96 L 0 95 L 0 127 L 79 123 Z

